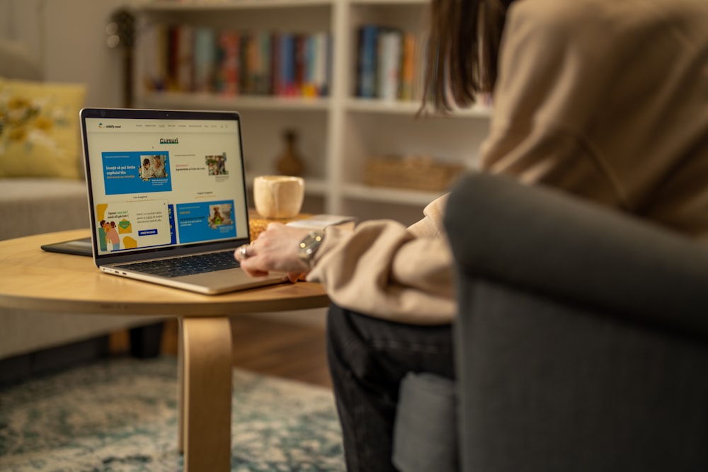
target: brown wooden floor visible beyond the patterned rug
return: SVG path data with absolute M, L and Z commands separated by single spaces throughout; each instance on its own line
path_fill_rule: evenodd
M 178 323 L 166 321 L 162 337 L 164 354 L 177 354 Z M 266 375 L 331 386 L 324 328 L 287 323 L 259 316 L 232 318 L 233 364 Z M 111 339 L 113 350 L 127 348 L 127 333 Z

